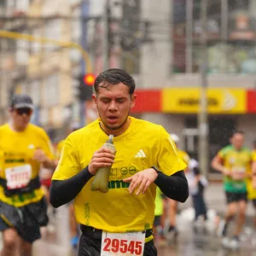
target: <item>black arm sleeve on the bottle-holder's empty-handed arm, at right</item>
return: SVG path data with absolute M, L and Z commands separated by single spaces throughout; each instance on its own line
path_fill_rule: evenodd
M 154 183 L 164 195 L 175 201 L 184 202 L 189 197 L 188 181 L 183 171 L 175 172 L 171 176 L 158 172 Z

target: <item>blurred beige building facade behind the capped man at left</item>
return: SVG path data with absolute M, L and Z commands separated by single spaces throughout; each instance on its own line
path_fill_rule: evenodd
M 43 40 L 1 38 L 0 121 L 8 119 L 10 97 L 27 93 L 35 103 L 32 122 L 44 126 L 51 137 L 64 136 L 71 123 L 80 121 L 74 90 L 85 67 L 79 50 L 48 44 L 45 39 L 81 44 L 83 1 L 3 2 L 1 29 Z

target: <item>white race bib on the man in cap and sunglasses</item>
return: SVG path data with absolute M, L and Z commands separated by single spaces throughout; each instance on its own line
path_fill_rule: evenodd
M 5 169 L 7 189 L 20 189 L 26 187 L 32 177 L 31 165 L 15 166 Z

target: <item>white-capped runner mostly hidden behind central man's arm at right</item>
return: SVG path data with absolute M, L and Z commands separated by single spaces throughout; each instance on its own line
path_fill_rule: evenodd
M 170 134 L 173 141 L 176 143 L 177 146 L 177 156 L 184 161 L 184 163 L 188 166 L 189 165 L 189 154 L 187 154 L 185 151 L 181 150 L 179 148 L 179 137 L 177 137 L 176 134 L 172 133 Z M 184 172 L 187 171 L 187 168 L 184 169 Z M 167 241 L 172 241 L 173 239 L 176 239 L 177 237 L 177 223 L 176 223 L 176 217 L 177 217 L 177 201 L 172 200 L 170 198 L 166 201 L 167 206 L 165 207 L 167 216 L 169 218 L 169 226 L 166 226 L 164 229 L 164 233 L 166 236 Z M 166 213 L 162 215 L 162 223 L 166 220 Z

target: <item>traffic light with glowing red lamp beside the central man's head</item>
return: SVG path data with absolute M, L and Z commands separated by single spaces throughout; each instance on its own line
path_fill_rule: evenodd
M 81 102 L 91 100 L 95 75 L 87 73 L 79 76 L 79 99 Z

